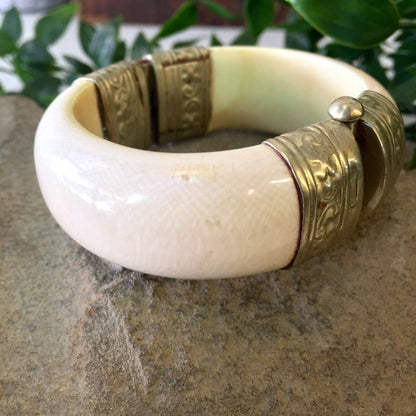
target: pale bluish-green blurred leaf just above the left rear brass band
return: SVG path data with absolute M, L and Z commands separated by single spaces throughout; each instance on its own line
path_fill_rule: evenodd
M 120 17 L 115 17 L 105 24 L 97 25 L 92 38 L 86 45 L 87 55 L 98 68 L 109 66 L 114 61 L 119 44 L 120 23 Z M 87 27 L 87 36 L 89 35 L 89 28 Z

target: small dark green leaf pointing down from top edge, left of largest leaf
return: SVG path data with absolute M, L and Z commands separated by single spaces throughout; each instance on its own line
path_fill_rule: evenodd
M 244 17 L 248 29 L 255 39 L 269 26 L 273 16 L 273 0 L 245 0 Z

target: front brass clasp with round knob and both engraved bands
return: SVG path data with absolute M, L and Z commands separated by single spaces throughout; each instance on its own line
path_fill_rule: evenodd
M 387 97 L 374 91 L 340 97 L 329 114 L 333 120 L 264 142 L 286 162 L 298 190 L 301 224 L 290 265 L 351 232 L 388 194 L 403 166 L 403 119 Z

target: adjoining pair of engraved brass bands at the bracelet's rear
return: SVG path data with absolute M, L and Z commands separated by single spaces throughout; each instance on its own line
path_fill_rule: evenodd
M 175 49 L 95 71 L 104 137 L 130 147 L 203 134 L 211 115 L 209 50 Z

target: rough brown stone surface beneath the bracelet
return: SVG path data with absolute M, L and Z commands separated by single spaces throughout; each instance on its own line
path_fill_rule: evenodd
M 304 266 L 169 280 L 56 225 L 33 167 L 40 116 L 0 99 L 2 415 L 416 413 L 416 172 Z

